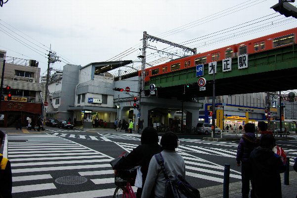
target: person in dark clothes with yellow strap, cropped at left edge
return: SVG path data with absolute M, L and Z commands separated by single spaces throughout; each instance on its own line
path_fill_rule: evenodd
M 5 137 L 3 131 L 0 131 L 0 147 Z M 12 174 L 10 161 L 3 158 L 0 154 L 0 198 L 12 198 Z

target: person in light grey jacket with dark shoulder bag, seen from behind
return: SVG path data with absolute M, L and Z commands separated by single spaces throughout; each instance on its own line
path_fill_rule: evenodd
M 175 152 L 179 145 L 177 136 L 166 132 L 162 135 L 160 145 L 163 151 L 151 158 L 141 198 L 150 198 L 151 194 L 155 194 L 154 198 L 200 198 L 199 191 L 188 187 L 189 184 L 184 180 L 185 162 Z

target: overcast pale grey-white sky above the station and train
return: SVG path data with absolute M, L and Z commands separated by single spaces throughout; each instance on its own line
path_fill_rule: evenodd
M 142 53 L 144 31 L 204 52 L 297 27 L 297 19 L 270 9 L 276 3 L 278 0 L 8 0 L 0 7 L 0 49 L 7 56 L 39 61 L 43 75 L 50 45 L 63 61 L 51 66 L 55 69 L 62 70 L 66 63 L 136 61 Z M 153 65 L 189 55 L 160 42 L 148 44 L 158 50 L 167 47 L 163 51 L 170 53 L 148 49 L 147 62 Z M 140 63 L 130 66 L 139 69 Z

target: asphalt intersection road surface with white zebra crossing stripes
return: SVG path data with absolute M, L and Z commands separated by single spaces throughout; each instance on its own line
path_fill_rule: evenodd
M 47 127 L 37 133 L 15 129 L 6 132 L 14 198 L 111 197 L 115 184 L 109 161 L 140 144 L 139 134 L 113 130 Z M 204 141 L 202 137 L 179 137 L 181 145 L 177 152 L 186 163 L 186 180 L 198 189 L 221 185 L 224 164 L 230 164 L 230 183 L 240 182 L 241 167 L 235 161 L 238 142 Z M 291 157 L 293 165 L 297 138 L 277 143 Z

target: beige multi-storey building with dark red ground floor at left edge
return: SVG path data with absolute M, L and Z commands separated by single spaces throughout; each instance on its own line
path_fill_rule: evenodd
M 3 62 L 5 60 L 5 65 Z M 0 50 L 0 74 L 4 68 L 3 89 L 10 86 L 12 98 L 7 100 L 3 92 L 0 105 L 0 125 L 15 126 L 21 119 L 22 125 L 27 125 L 27 118 L 37 119 L 42 115 L 42 92 L 44 85 L 40 83 L 40 68 L 36 60 L 26 60 L 6 56 L 6 51 Z

